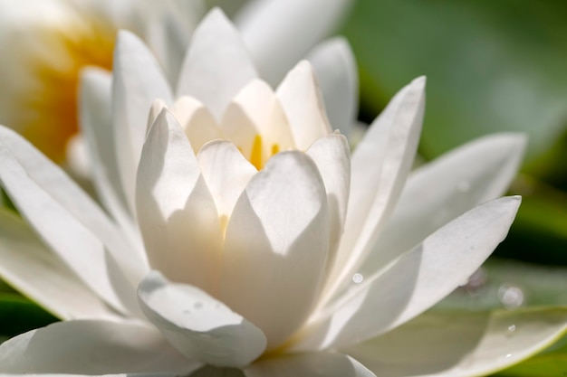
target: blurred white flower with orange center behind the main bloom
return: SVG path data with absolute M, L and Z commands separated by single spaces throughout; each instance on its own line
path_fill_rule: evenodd
M 332 33 L 350 4 L 254 0 L 234 17 L 264 76 L 277 82 Z M 149 43 L 168 80 L 175 82 L 205 8 L 200 0 L 1 0 L 0 50 L 10 53 L 0 56 L 0 122 L 55 161 L 68 162 L 79 176 L 88 174 L 81 138 L 74 137 L 82 68 L 110 70 L 116 33 L 128 29 Z M 288 33 L 290 24 L 295 24 L 293 33 Z M 277 42 L 277 53 L 266 37 Z

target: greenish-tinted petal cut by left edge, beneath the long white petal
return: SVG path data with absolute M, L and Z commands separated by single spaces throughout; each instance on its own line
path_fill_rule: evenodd
M 22 219 L 5 209 L 0 209 L 0 238 L 0 276 L 55 316 L 119 316 L 48 250 Z

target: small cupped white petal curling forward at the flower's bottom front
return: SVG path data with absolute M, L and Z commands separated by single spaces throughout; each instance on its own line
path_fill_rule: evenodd
M 197 287 L 171 284 L 152 271 L 138 297 L 148 319 L 189 359 L 240 367 L 264 352 L 262 330 Z

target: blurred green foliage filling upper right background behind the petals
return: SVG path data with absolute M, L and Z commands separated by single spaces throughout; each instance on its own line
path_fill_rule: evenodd
M 371 119 L 428 76 L 420 153 L 481 135 L 528 134 L 524 202 L 497 254 L 567 265 L 567 2 L 358 0 L 343 33 Z

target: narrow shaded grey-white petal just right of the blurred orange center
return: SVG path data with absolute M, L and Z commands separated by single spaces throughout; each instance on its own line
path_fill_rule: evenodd
M 111 116 L 111 80 L 108 71 L 94 67 L 82 70 L 79 123 L 90 152 L 92 182 L 98 197 L 130 239 L 138 240 L 134 215 L 120 184 Z

